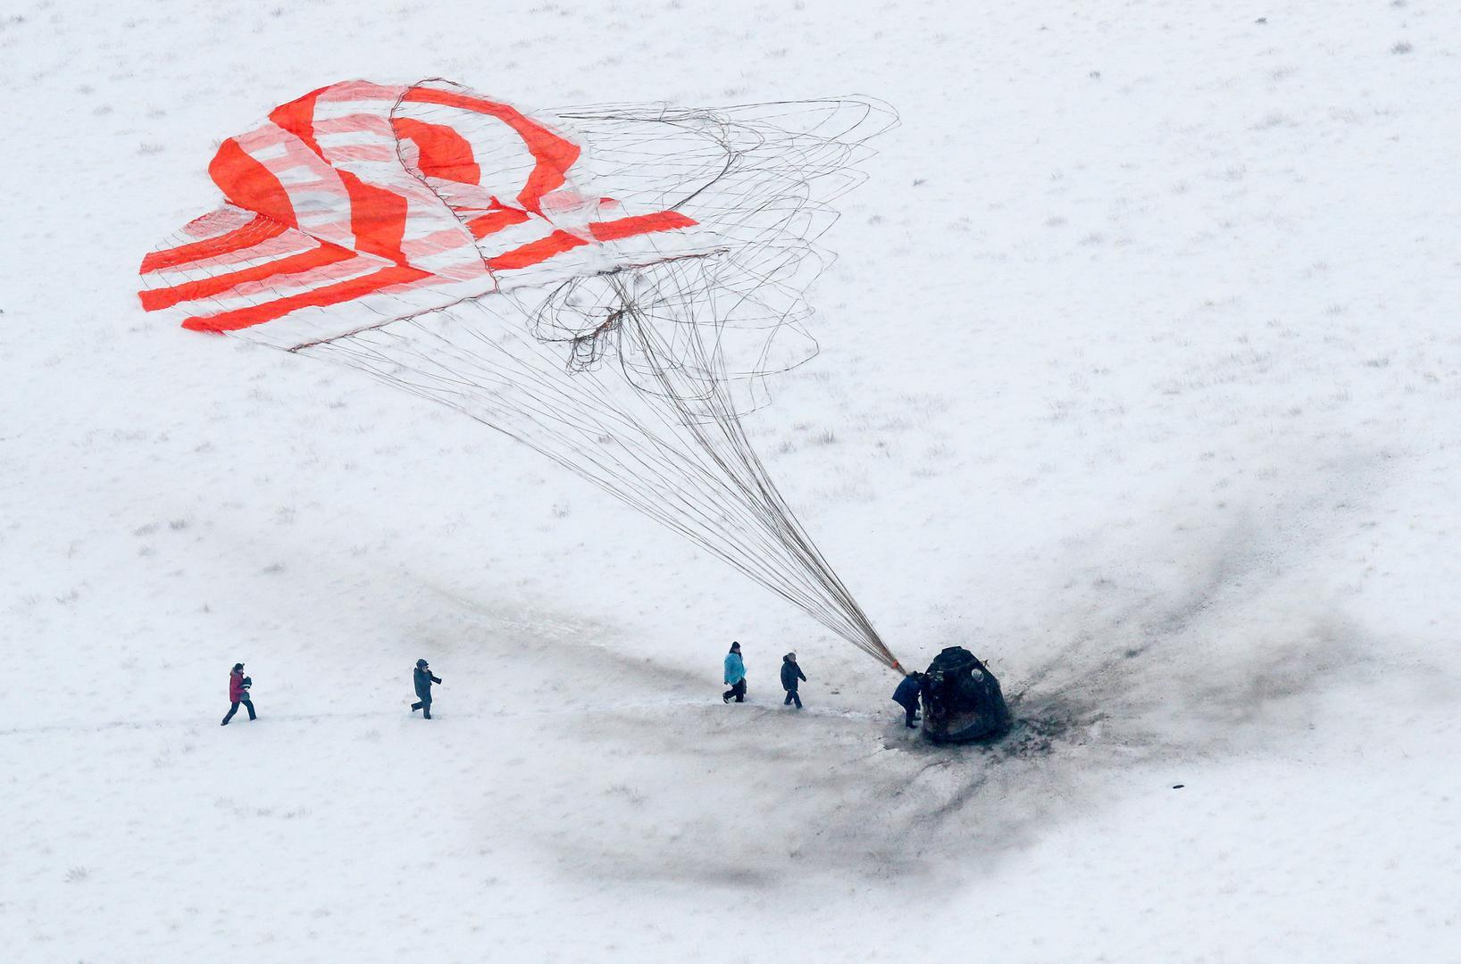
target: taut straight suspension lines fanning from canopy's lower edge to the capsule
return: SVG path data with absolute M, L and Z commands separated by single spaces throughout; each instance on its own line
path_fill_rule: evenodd
M 621 295 L 627 294 L 621 289 Z M 745 437 L 717 380 L 682 384 L 663 342 L 630 304 L 633 337 L 659 391 L 609 370 L 565 372 L 560 351 L 468 302 L 305 349 L 335 356 L 413 394 L 449 405 L 548 456 L 609 495 L 738 568 L 834 634 L 896 660 L 812 543 Z M 719 365 L 695 337 L 695 368 Z M 704 403 L 704 409 L 697 408 Z M 665 400 L 671 402 L 666 412 Z M 671 413 L 674 418 L 671 418 Z

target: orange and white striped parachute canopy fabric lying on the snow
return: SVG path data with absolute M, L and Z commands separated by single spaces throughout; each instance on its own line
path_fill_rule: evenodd
M 295 348 L 527 285 L 714 248 L 695 222 L 593 190 L 584 150 L 446 82 L 346 80 L 229 137 L 226 204 L 142 263 L 142 305 Z

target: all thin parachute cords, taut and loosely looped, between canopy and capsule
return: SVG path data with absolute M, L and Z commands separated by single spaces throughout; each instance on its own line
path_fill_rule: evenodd
M 456 85 L 424 85 L 451 93 L 418 96 L 409 111 L 402 93 L 387 115 L 457 124 L 457 108 L 444 105 L 462 102 Z M 830 202 L 861 183 L 852 165 L 868 153 L 863 142 L 894 123 L 891 112 L 849 98 L 717 111 L 605 105 L 541 120 L 561 124 L 554 136 L 592 161 L 592 183 L 574 185 L 565 172 L 565 190 L 614 199 L 619 209 L 605 219 L 676 212 L 700 232 L 698 247 L 666 238 L 656 253 L 647 235 L 641 260 L 557 286 L 500 285 L 446 307 L 389 308 L 294 351 L 522 441 L 899 669 L 741 422 L 766 403 L 767 377 L 817 353 L 802 329 L 805 291 L 831 257 L 815 240 L 836 219 Z M 462 188 L 428 178 L 424 162 L 418 171 L 415 153 L 397 142 L 413 190 L 450 206 Z M 581 247 L 590 241 L 581 225 L 558 234 L 581 234 L 579 250 L 592 250 Z M 481 240 L 482 264 L 495 272 L 492 242 Z M 409 292 L 396 299 L 408 302 Z

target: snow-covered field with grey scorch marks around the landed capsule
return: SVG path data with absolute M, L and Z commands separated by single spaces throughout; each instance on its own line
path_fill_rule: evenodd
M 0 958 L 1461 960 L 1458 54 L 1430 0 L 9 0 Z M 145 315 L 216 142 L 355 76 L 893 104 L 749 431 L 1045 739 L 934 749 L 530 450 Z

